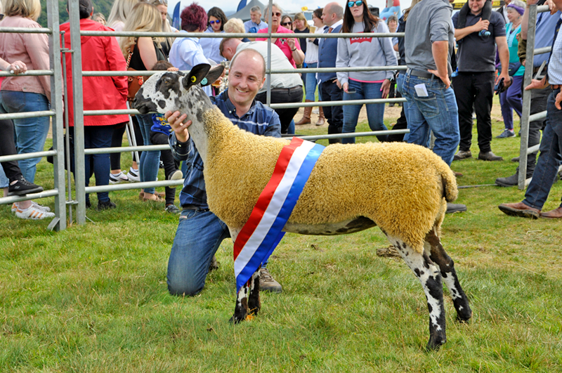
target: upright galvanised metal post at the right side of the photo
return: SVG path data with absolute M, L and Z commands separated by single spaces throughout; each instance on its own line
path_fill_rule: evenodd
M 529 8 L 529 25 L 527 29 L 527 53 L 525 55 L 525 74 L 523 76 L 523 86 L 526 87 L 532 79 L 532 61 L 535 50 L 535 30 L 537 25 L 537 6 Z M 527 148 L 529 145 L 529 114 L 531 110 L 531 91 L 523 90 L 523 109 L 521 115 L 521 145 L 519 148 L 519 176 L 517 188 L 525 189 L 527 178 Z

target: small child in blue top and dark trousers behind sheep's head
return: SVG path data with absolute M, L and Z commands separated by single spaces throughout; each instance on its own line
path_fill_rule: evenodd
M 178 71 L 167 61 L 158 61 L 152 70 Z M 164 119 L 162 114 L 152 114 L 152 127 L 150 128 L 150 142 L 154 145 L 167 145 L 168 136 L 174 131 L 170 124 Z M 164 163 L 164 175 L 167 180 L 179 180 L 183 178 L 183 173 L 178 169 L 179 162 L 171 155 L 171 150 L 160 150 L 160 158 Z M 174 204 L 176 198 L 176 188 L 166 187 L 166 211 L 171 214 L 179 214 L 181 211 Z

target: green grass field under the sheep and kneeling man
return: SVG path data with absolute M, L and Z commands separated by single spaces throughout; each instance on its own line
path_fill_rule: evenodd
M 459 185 L 513 174 L 519 140 L 493 140 L 504 162 L 453 162 Z M 46 188 L 51 170 L 41 161 Z M 455 322 L 446 294 L 447 343 L 433 353 L 421 285 L 403 261 L 377 257 L 388 246 L 377 228 L 287 234 L 269 265 L 282 294 L 263 294 L 260 315 L 233 326 L 232 242 L 200 295 L 170 296 L 177 216 L 137 194 L 112 192 L 117 209 L 60 233 L 0 206 L 0 372 L 562 372 L 562 222 L 502 214 L 498 204 L 523 199 L 517 188 L 459 190 L 469 211 L 447 215 L 443 246 L 473 319 Z M 561 195 L 558 182 L 544 209 Z

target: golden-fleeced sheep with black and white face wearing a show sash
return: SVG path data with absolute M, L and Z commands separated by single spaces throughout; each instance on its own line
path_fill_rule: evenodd
M 222 67 L 197 65 L 184 72 L 159 72 L 143 84 L 134 107 L 142 114 L 178 110 L 204 162 L 209 209 L 228 225 L 235 242 L 268 183 L 289 140 L 255 136 L 239 129 L 212 105 L 200 81 L 213 81 Z M 249 156 L 254 154 L 254 157 Z M 404 143 L 329 145 L 304 186 L 285 232 L 341 235 L 378 225 L 417 276 L 429 308 L 428 349 L 446 341 L 442 279 L 457 320 L 472 316 L 454 263 L 440 242 L 446 202 L 457 198 L 451 169 L 431 150 Z M 259 272 L 237 294 L 233 322 L 258 313 Z

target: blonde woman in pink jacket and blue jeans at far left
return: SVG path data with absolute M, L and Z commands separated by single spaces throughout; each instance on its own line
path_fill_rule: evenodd
M 40 28 L 37 18 L 41 14 L 39 0 L 4 0 L 4 19 L 0 27 Z M 0 33 L 0 58 L 6 61 L 20 60 L 28 70 L 49 70 L 48 38 L 46 34 Z M 20 75 L 6 77 L 1 86 L 2 112 L 37 112 L 49 110 L 51 78 Z M 44 150 L 49 128 L 49 117 L 13 119 L 18 153 Z M 19 166 L 22 176 L 34 182 L 37 163 L 41 158 L 22 159 Z M 47 216 L 46 209 L 32 203 L 20 202 L 15 206 L 19 218 L 37 219 Z M 51 214 L 53 216 L 53 214 Z

